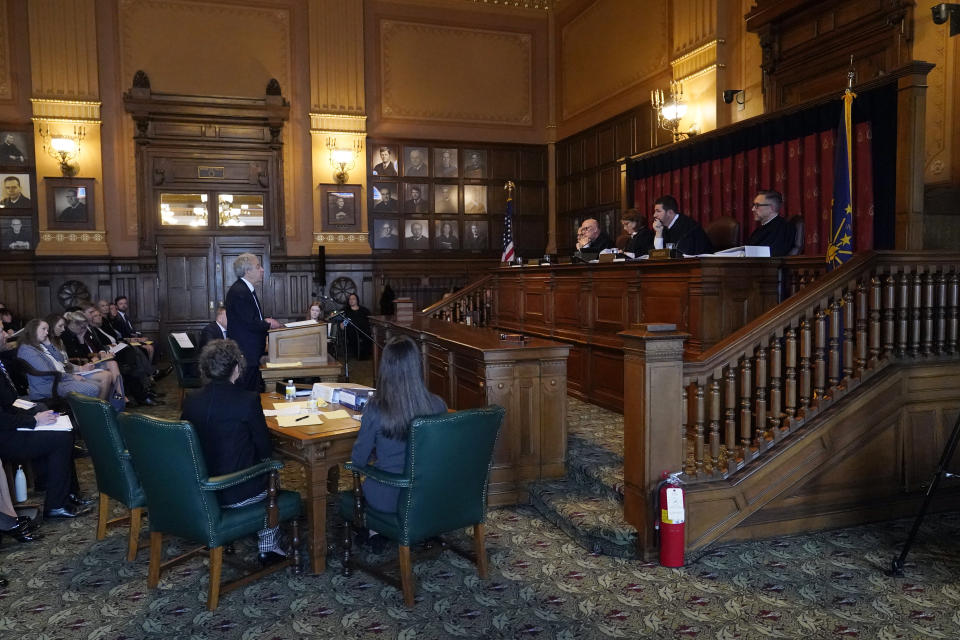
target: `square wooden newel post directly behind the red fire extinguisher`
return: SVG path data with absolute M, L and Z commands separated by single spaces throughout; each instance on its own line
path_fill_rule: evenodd
M 654 494 L 660 474 L 681 470 L 686 459 L 683 343 L 690 334 L 673 324 L 641 324 L 618 335 L 624 343 L 624 389 L 633 390 L 623 403 L 623 515 L 637 529 L 640 555 L 649 560 L 656 557 Z

